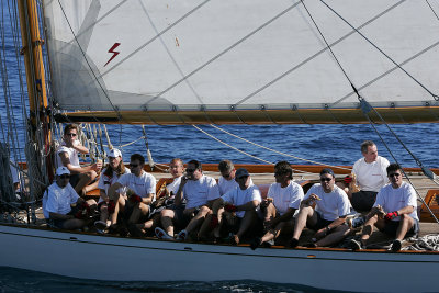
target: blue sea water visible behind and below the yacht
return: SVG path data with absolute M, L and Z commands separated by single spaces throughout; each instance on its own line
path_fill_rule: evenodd
M 25 123 L 22 116 L 21 101 L 26 99 L 21 94 L 19 66 L 15 59 L 16 49 L 13 46 L 11 31 L 8 31 L 10 19 L 8 15 L 11 1 L 2 1 L 3 16 L 1 19 L 1 48 L 0 56 L 2 72 L 0 83 L 0 140 L 8 143 L 12 149 L 14 160 L 24 160 Z M 23 63 L 23 60 L 21 60 Z M 8 81 L 5 78 L 8 77 Z M 23 75 L 21 75 L 24 78 Z M 25 82 L 25 80 L 24 80 Z M 5 98 L 9 97 L 9 98 Z M 12 105 L 7 111 L 5 104 Z M 11 121 L 11 124 L 8 124 Z M 147 143 L 156 162 L 169 162 L 179 157 L 184 161 L 198 159 L 201 162 L 218 162 L 230 159 L 234 162 L 270 164 L 288 160 L 291 164 L 311 164 L 297 158 L 272 153 L 232 137 L 210 125 L 200 126 L 203 131 L 254 157 L 238 153 L 225 144 L 214 140 L 191 125 L 184 126 L 146 126 Z M 384 126 L 378 126 L 385 144 L 370 125 L 219 125 L 221 128 L 238 135 L 255 144 L 273 150 L 292 155 L 307 160 L 328 165 L 352 165 L 361 157 L 360 144 L 365 139 L 374 140 L 379 153 L 404 167 L 417 167 L 412 155 L 395 139 Z M 424 166 L 439 167 L 439 127 L 438 124 L 403 124 L 391 125 L 394 133 L 406 145 L 412 154 Z M 18 133 L 11 129 L 16 128 Z M 146 140 L 140 126 L 109 125 L 111 143 L 122 149 L 125 160 L 134 153 L 146 154 Z M 140 139 L 138 139 L 140 138 Z M 136 140 L 137 139 L 137 140 Z M 134 144 L 125 146 L 132 142 Z M 103 142 L 106 144 L 106 139 Z M 256 159 L 260 158 L 259 159 Z M 19 256 L 18 256 L 19 257 Z M 290 286 L 267 282 L 101 282 L 63 278 L 52 274 L 37 273 L 25 270 L 0 267 L 1 292 L 315 292 L 311 288 Z M 319 291 L 324 292 L 324 291 Z

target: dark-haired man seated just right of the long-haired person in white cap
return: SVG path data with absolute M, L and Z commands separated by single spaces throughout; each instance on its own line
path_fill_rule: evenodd
M 111 214 L 111 230 L 119 228 L 126 230 L 130 224 L 137 224 L 146 221 L 149 214 L 149 205 L 156 200 L 156 179 L 150 173 L 144 171 L 145 158 L 139 154 L 134 154 L 130 158 L 131 173 L 122 174 L 110 189 L 108 196 L 114 201 L 114 212 Z M 126 188 L 126 194 L 116 192 L 121 188 Z M 117 215 L 123 212 L 123 223 L 116 226 Z

